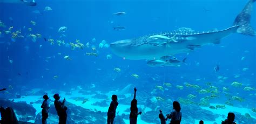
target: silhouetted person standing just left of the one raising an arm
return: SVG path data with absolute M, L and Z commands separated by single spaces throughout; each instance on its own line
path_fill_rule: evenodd
M 117 95 L 112 95 L 112 101 L 107 111 L 107 124 L 113 124 L 114 117 L 116 117 L 116 109 L 118 106 Z

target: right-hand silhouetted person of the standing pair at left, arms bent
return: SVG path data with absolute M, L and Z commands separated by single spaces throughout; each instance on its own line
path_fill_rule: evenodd
M 59 124 L 65 124 L 66 118 L 68 117 L 66 114 L 68 108 L 65 106 L 66 99 L 64 98 L 63 102 L 59 101 L 60 97 L 57 93 L 53 95 L 53 98 L 55 99 L 54 106 L 59 116 Z

